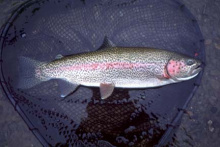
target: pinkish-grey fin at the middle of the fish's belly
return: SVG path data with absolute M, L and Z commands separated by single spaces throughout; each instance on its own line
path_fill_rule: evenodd
M 101 93 L 101 99 L 106 99 L 108 98 L 112 92 L 114 91 L 114 84 L 106 84 L 106 83 L 101 83 L 100 84 L 100 93 Z

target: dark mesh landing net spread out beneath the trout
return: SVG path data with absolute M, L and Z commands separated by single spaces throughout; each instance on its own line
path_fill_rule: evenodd
M 107 37 L 116 46 L 154 47 L 205 60 L 197 21 L 177 0 L 30 0 L 1 33 L 1 85 L 17 112 L 44 146 L 163 146 L 172 142 L 183 110 L 202 74 L 149 89 L 81 86 L 60 98 L 55 80 L 16 87 L 18 58 L 50 62 L 58 54 L 97 50 Z

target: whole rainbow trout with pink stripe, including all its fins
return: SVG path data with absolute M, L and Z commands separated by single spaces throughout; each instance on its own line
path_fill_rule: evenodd
M 117 47 L 104 40 L 100 49 L 62 56 L 51 62 L 19 58 L 18 88 L 29 89 L 57 79 L 60 97 L 80 85 L 99 87 L 101 99 L 114 88 L 154 88 L 190 80 L 202 70 L 201 61 L 187 55 L 151 47 Z

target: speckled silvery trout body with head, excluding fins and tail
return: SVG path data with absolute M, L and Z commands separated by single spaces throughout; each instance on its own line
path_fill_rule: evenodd
M 36 68 L 36 77 L 84 86 L 112 83 L 114 87 L 149 88 L 189 80 L 201 71 L 200 64 L 161 49 L 112 47 L 44 64 Z

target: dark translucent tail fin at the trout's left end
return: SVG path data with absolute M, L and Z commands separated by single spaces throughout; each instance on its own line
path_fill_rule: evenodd
M 43 62 L 35 61 L 27 57 L 19 57 L 19 79 L 17 88 L 28 89 L 37 84 L 39 84 L 42 79 L 35 76 L 35 69 L 41 65 Z

